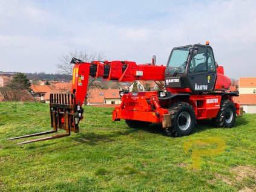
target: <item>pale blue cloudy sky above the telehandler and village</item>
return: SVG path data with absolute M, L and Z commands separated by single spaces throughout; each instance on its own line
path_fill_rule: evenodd
M 229 77 L 255 77 L 256 1 L 0 0 L 0 71 L 57 72 L 70 51 L 166 65 L 209 40 Z

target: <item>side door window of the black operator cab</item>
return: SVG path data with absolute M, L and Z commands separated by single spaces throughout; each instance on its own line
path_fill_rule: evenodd
M 191 63 L 189 66 L 189 72 L 202 72 L 207 70 L 207 61 L 206 61 L 206 48 L 199 47 L 197 54 L 193 54 Z

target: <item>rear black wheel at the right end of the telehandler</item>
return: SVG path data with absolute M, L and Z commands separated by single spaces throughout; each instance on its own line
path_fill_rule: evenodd
M 229 100 L 222 100 L 217 117 L 212 118 L 212 121 L 217 127 L 232 127 L 235 124 L 235 118 L 237 115 L 234 103 Z

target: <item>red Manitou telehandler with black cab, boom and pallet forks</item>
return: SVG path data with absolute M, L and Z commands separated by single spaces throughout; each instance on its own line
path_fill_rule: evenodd
M 238 92 L 227 92 L 231 80 L 218 66 L 209 43 L 174 48 L 166 66 L 137 65 L 128 61 L 74 63 L 71 94 L 50 95 L 50 132 L 35 133 L 11 139 L 45 135 L 64 129 L 66 133 L 33 139 L 28 142 L 44 141 L 79 132 L 79 121 L 83 119 L 88 78 L 102 77 L 118 82 L 134 80 L 165 81 L 166 91 L 127 93 L 122 95 L 119 107 L 113 110 L 113 121 L 125 120 L 129 127 L 148 126 L 162 123 L 169 136 L 189 135 L 196 120 L 211 118 L 217 127 L 232 127 L 236 115 L 243 114 L 242 107 L 232 100 Z

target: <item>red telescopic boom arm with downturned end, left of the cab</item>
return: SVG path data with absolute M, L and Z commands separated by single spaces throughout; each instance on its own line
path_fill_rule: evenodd
M 76 104 L 80 106 L 87 94 L 89 75 L 93 78 L 102 77 L 119 82 L 164 80 L 165 66 L 137 65 L 128 61 L 76 63 L 73 69 L 72 93 L 76 95 Z

